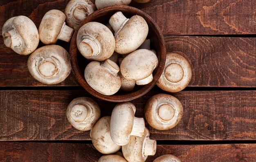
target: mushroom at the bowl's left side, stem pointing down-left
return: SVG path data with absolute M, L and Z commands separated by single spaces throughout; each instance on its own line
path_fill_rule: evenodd
M 84 24 L 77 33 L 76 44 L 86 59 L 95 61 L 104 61 L 115 51 L 115 38 L 112 32 L 99 22 Z

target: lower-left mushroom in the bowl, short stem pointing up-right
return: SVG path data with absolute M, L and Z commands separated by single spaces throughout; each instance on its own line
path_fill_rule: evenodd
M 105 95 L 115 94 L 121 87 L 118 65 L 107 59 L 103 64 L 90 62 L 85 68 L 85 80 L 97 92 Z

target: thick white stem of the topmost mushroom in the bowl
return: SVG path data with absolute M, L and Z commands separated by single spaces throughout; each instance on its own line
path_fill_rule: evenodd
M 124 16 L 124 14 L 122 12 L 116 12 L 114 15 L 111 16 L 110 20 L 109 20 L 109 24 L 112 26 L 112 28 L 115 31 L 115 35 L 117 35 L 119 33 L 119 31 L 121 31 L 121 29 L 124 27 L 124 25 L 126 24 L 126 22 L 129 19 L 126 18 Z

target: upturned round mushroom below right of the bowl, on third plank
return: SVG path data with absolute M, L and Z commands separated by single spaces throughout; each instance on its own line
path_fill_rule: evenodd
M 144 111 L 145 118 L 151 127 L 158 130 L 168 130 L 180 122 L 183 107 L 174 96 L 157 94 L 148 100 Z

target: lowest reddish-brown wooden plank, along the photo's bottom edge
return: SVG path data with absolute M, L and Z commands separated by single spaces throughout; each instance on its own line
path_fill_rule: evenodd
M 102 156 L 92 144 L 51 142 L 0 142 L 0 161 L 97 162 Z M 158 145 L 155 156 L 173 154 L 182 162 L 254 162 L 256 144 Z

